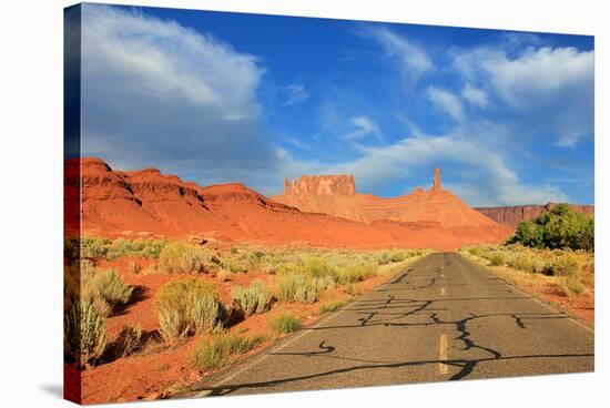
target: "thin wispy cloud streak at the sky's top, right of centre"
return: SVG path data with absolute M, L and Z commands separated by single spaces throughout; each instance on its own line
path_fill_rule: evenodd
M 408 84 L 415 84 L 424 74 L 435 70 L 433 60 L 421 48 L 389 29 L 366 27 L 363 32 L 377 41 L 386 54 L 396 61 L 398 70 Z

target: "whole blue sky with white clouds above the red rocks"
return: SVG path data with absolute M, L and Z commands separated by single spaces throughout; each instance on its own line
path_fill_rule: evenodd
M 593 196 L 593 38 L 84 4 L 82 154 L 279 194 Z

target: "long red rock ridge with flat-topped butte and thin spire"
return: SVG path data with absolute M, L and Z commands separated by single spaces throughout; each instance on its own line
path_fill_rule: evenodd
M 350 175 L 303 176 L 270 198 L 241 183 L 200 186 L 156 169 L 113 171 L 95 157 L 68 160 L 64 183 L 67 220 L 80 213 L 91 236 L 453 249 L 499 243 L 511 233 L 443 188 L 438 172 L 430 190 L 396 198 L 356 193 Z M 67 221 L 67 233 L 75 234 L 71 225 Z

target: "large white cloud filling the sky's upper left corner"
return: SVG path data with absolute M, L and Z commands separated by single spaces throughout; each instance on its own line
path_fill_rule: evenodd
M 110 7 L 88 6 L 82 27 L 85 80 L 124 81 L 125 93 L 216 108 L 230 120 L 257 114 L 263 70 L 255 57 L 175 22 Z

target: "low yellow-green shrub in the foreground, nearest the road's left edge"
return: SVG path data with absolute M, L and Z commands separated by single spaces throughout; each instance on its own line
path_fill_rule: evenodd
M 202 338 L 191 354 L 189 363 L 199 371 L 217 369 L 228 364 L 232 357 L 251 351 L 264 340 L 264 336 L 245 337 L 235 334 Z

